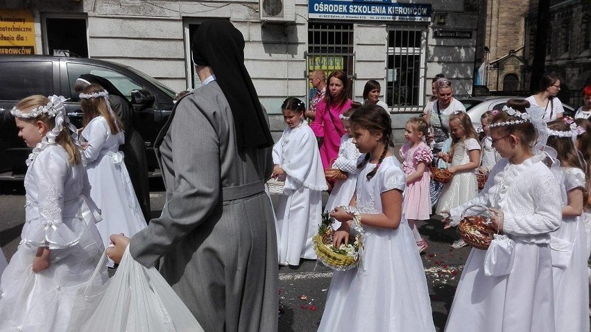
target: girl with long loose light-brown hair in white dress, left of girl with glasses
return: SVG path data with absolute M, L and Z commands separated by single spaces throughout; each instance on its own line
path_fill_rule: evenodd
M 449 128 L 452 132 L 452 149 L 449 154 L 439 152 L 439 157 L 451 166 L 452 181 L 443 185 L 435 213 L 457 207 L 471 200 L 478 193 L 478 182 L 474 170 L 480 166 L 480 143 L 478 134 L 472 126 L 470 116 L 465 112 L 454 112 L 449 116 Z M 465 246 L 459 239 L 452 243 L 455 249 Z

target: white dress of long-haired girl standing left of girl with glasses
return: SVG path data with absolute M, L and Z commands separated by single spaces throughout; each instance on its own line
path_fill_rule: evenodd
M 451 166 L 468 164 L 470 150 L 480 150 L 480 144 L 476 139 L 467 139 L 456 143 Z M 440 214 L 443 210 L 457 207 L 468 200 L 471 200 L 478 193 L 478 182 L 474 170 L 456 172 L 452 181 L 443 185 L 441 196 L 437 202 L 435 213 Z

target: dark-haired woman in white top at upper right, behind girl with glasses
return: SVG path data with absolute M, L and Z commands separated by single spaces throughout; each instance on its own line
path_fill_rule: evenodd
M 546 110 L 544 121 L 554 121 L 562 118 L 565 112 L 563 103 L 556 97 L 558 91 L 560 91 L 560 79 L 554 75 L 547 75 L 540 81 L 540 91 L 525 100 L 529 101 L 531 107 L 538 106 Z

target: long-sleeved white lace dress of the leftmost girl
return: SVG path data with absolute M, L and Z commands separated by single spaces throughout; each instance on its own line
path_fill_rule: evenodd
M 0 331 L 62 332 L 76 291 L 89 281 L 103 252 L 95 226 L 100 216 L 87 196 L 84 167 L 71 166 L 61 146 L 48 146 L 35 157 L 24 185 L 26 222 L 2 274 Z M 49 246 L 50 265 L 33 273 L 40 246 Z

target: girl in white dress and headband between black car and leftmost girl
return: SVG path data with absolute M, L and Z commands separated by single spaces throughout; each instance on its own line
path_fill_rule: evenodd
M 109 94 L 100 85 L 88 85 L 80 94 L 80 107 L 84 112 L 85 150 L 90 197 L 101 209 L 103 221 L 96 227 L 107 247 L 111 234 L 134 236 L 147 226 L 142 209 L 123 161 L 123 127 L 107 101 Z M 112 261 L 109 261 L 112 266 Z

